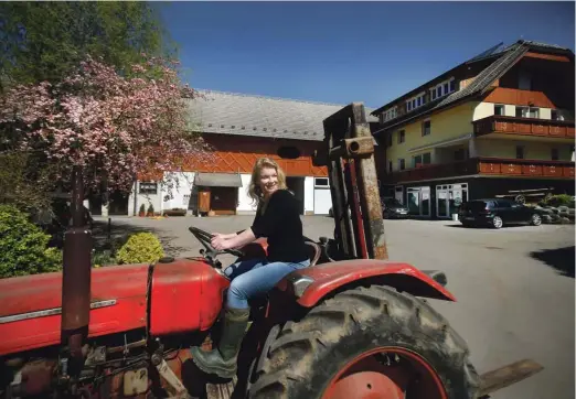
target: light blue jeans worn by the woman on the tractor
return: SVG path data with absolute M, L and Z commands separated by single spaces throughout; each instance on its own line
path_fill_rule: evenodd
M 227 306 L 248 309 L 249 299 L 270 291 L 286 276 L 308 266 L 310 266 L 309 259 L 298 263 L 249 259 L 231 265 L 224 270 L 224 273 L 232 280 L 227 294 Z

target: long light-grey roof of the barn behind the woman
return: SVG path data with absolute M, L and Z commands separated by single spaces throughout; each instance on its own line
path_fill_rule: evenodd
M 344 106 L 199 90 L 190 101 L 194 130 L 204 133 L 321 141 L 322 121 Z M 366 116 L 372 108 L 366 108 Z M 371 116 L 370 121 L 377 121 Z

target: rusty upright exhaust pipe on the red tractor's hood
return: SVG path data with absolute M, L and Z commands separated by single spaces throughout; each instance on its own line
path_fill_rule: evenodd
M 84 365 L 82 346 L 88 336 L 92 267 L 92 234 L 85 226 L 81 166 L 74 166 L 72 184 L 72 227 L 64 235 L 61 343 L 70 356 L 67 373 L 77 376 Z

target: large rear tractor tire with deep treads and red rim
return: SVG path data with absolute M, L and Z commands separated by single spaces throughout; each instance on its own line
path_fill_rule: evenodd
M 393 288 L 343 291 L 273 328 L 250 399 L 477 398 L 465 341 L 426 302 Z

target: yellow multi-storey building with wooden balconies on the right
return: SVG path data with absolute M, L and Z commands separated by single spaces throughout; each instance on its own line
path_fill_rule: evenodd
M 431 218 L 473 198 L 574 195 L 574 73 L 568 48 L 500 44 L 374 110 L 386 195 Z

